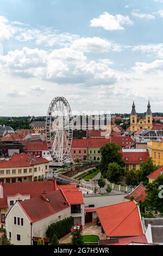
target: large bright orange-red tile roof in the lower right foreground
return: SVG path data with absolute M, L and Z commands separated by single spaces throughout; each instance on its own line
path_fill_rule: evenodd
M 96 209 L 106 236 L 143 235 L 138 206 L 134 201 Z

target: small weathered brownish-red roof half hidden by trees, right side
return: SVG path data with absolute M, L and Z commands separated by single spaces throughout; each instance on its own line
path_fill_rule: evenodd
M 127 195 L 125 198 L 130 199 L 130 197 L 133 196 L 136 202 L 143 202 L 147 195 L 145 191 L 146 188 L 142 184 L 139 184 L 139 186 L 137 186 L 134 191 Z

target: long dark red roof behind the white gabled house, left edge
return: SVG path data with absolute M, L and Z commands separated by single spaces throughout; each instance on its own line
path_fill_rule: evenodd
M 30 198 L 38 197 L 44 190 L 52 192 L 55 190 L 54 181 L 32 181 L 17 183 L 2 183 L 3 198 L 0 198 L 0 209 L 8 208 L 7 196 L 17 193 L 22 195 L 30 195 Z

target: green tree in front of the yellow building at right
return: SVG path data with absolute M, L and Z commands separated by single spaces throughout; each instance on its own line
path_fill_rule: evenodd
M 148 184 L 148 178 L 147 176 L 151 174 L 154 170 L 158 168 L 158 166 L 155 166 L 153 164 L 152 157 L 148 157 L 146 162 L 140 163 L 140 170 L 137 170 L 136 172 L 136 178 L 137 181 L 140 183 L 142 182 L 144 185 Z

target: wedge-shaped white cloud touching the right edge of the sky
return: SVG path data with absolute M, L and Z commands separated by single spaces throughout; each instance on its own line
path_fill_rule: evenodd
M 133 51 L 140 51 L 148 55 L 163 57 L 163 43 L 162 44 L 142 44 L 131 47 Z

